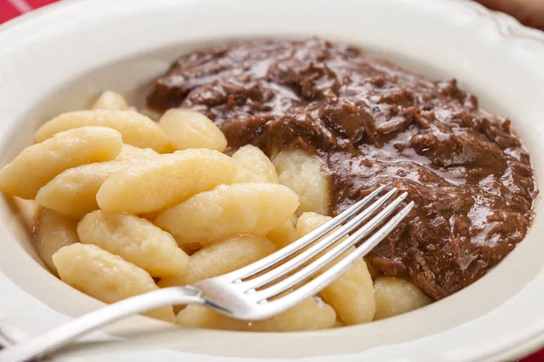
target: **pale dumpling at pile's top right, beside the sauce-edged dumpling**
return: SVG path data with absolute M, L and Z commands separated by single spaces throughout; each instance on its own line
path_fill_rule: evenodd
M 276 167 L 259 148 L 252 145 L 244 146 L 239 148 L 232 155 L 232 158 L 236 159 L 247 170 L 248 182 L 277 184 Z

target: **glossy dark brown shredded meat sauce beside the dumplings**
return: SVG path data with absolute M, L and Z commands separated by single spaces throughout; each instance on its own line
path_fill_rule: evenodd
M 353 46 L 259 40 L 192 52 L 148 105 L 207 114 L 232 148 L 323 157 L 331 214 L 376 186 L 407 191 L 415 208 L 370 260 L 437 300 L 500 262 L 533 217 L 534 171 L 509 119 L 480 110 L 455 80 L 427 81 Z

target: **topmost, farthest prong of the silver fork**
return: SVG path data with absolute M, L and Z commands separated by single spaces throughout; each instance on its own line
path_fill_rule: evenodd
M 243 278 L 248 278 L 249 276 L 254 275 L 259 271 L 264 271 L 268 267 L 277 264 L 277 262 L 283 262 L 294 253 L 298 252 L 301 249 L 304 249 L 310 243 L 316 242 L 316 240 L 325 235 L 325 233 L 333 230 L 339 224 L 344 223 L 345 220 L 356 214 L 365 205 L 372 201 L 376 195 L 380 194 L 384 190 L 384 188 L 385 186 L 380 186 L 376 188 L 371 194 L 364 197 L 363 200 L 357 202 L 355 205 L 350 206 L 345 210 L 345 212 L 337 215 L 330 222 L 318 227 L 312 233 L 306 234 L 306 236 L 298 239 L 295 243 L 291 243 L 280 251 L 274 252 L 257 262 L 253 262 L 248 266 L 245 266 L 244 268 L 238 269 L 238 271 L 232 271 L 228 274 L 222 275 L 221 279 L 224 281 L 238 281 Z

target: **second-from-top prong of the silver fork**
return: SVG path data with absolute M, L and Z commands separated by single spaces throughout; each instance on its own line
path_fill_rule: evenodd
M 335 232 L 327 235 L 318 243 L 313 244 L 306 251 L 296 255 L 296 257 L 294 257 L 293 259 L 277 266 L 277 268 L 274 268 L 270 271 L 267 271 L 266 273 L 262 275 L 259 275 L 255 279 L 252 279 L 250 281 L 244 281 L 242 283 L 243 288 L 246 290 L 259 288 L 270 281 L 275 281 L 278 278 L 283 277 L 284 275 L 287 274 L 287 272 L 295 270 L 304 262 L 309 261 L 314 256 L 316 256 L 319 252 L 323 252 L 327 247 L 329 247 L 330 245 L 332 245 L 333 243 L 341 239 L 343 236 L 345 236 L 346 233 L 351 233 L 351 231 L 354 230 L 355 227 L 357 227 L 357 225 L 363 223 L 372 214 L 374 214 L 374 212 L 377 211 L 380 207 L 382 207 L 396 192 L 397 192 L 397 189 L 393 188 L 387 194 L 383 195 L 382 197 L 374 201 L 373 204 L 365 208 L 361 212 L 361 214 L 357 214 L 348 223 L 346 223 L 345 225 L 337 229 Z

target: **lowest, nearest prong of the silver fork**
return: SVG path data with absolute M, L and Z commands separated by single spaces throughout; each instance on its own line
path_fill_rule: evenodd
M 270 315 L 276 315 L 284 310 L 288 310 L 289 308 L 294 307 L 300 301 L 316 295 L 319 291 L 325 289 L 327 285 L 335 281 L 335 279 L 345 272 L 352 264 L 363 258 L 368 252 L 371 252 L 378 243 L 384 240 L 385 236 L 391 233 L 393 229 L 401 221 L 403 221 L 403 218 L 406 217 L 407 214 L 410 214 L 410 211 L 413 209 L 413 205 L 414 204 L 412 201 L 410 204 L 404 206 L 398 214 L 395 214 L 391 220 L 387 222 L 387 224 L 384 224 L 384 226 L 374 233 L 368 240 L 359 245 L 355 252 L 351 252 L 330 269 L 323 272 L 312 281 L 308 281 L 306 284 L 296 289 L 296 291 L 292 291 L 284 297 L 277 300 L 272 300 L 267 302 L 266 305 L 263 305 L 263 319 L 266 319 Z M 359 229 L 349 238 L 356 243 L 361 239 L 361 237 L 363 237 L 362 233 L 363 232 Z

